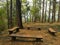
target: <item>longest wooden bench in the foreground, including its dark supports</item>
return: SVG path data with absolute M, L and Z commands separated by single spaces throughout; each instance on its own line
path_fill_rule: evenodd
M 9 35 L 9 37 L 12 38 L 12 40 L 16 40 L 16 37 L 19 37 L 19 38 L 33 38 L 33 39 L 36 39 L 36 41 L 41 41 L 41 39 L 43 39 L 43 37 L 40 35 L 40 36 L 33 36 L 33 35 L 24 35 L 24 34 L 11 34 Z

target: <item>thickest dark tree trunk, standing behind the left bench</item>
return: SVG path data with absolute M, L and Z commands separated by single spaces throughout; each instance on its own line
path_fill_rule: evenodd
M 16 10 L 17 10 L 18 26 L 20 29 L 23 29 L 22 15 L 21 15 L 21 0 L 16 0 Z

